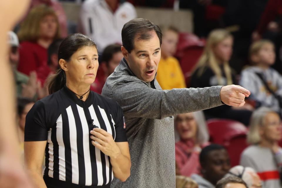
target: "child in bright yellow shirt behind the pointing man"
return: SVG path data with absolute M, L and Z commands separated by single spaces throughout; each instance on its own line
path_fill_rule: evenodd
M 163 32 L 161 59 L 157 71 L 157 80 L 163 90 L 186 88 L 179 61 L 173 57 L 177 49 L 178 38 L 179 32 L 174 27 L 169 27 Z

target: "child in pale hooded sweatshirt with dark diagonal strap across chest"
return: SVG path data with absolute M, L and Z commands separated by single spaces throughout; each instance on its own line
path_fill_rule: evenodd
M 282 76 L 271 68 L 275 62 L 274 44 L 268 40 L 254 42 L 249 56 L 253 66 L 242 71 L 239 84 L 251 92 L 256 108 L 269 107 L 281 115 Z

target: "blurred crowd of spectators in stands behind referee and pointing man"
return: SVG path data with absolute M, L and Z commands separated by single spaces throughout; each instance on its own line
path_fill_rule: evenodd
M 174 116 L 176 188 L 214 188 L 229 177 L 252 188 L 282 187 L 281 0 L 68 1 L 81 7 L 75 27 L 61 1 L 32 0 L 7 33 L 22 149 L 25 116 L 48 95 L 48 78 L 59 68 L 58 48 L 68 34 L 80 32 L 96 42 L 99 69 L 90 89 L 100 94 L 123 58 L 121 30 L 138 17 L 135 7 L 190 10 L 193 33 L 173 23 L 162 28 L 156 76 L 162 89 L 235 84 L 251 95 L 243 107 Z

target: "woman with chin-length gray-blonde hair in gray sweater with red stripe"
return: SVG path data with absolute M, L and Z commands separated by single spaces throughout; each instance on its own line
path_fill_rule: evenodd
M 270 108 L 254 111 L 247 137 L 250 144 L 241 155 L 240 165 L 252 167 L 263 182 L 263 187 L 281 188 L 282 148 L 281 120 Z

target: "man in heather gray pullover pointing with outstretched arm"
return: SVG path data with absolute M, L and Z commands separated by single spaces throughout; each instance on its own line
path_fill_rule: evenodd
M 125 182 L 114 179 L 111 187 L 175 187 L 173 115 L 223 103 L 243 106 L 250 95 L 236 85 L 162 90 L 155 78 L 161 43 L 160 28 L 146 19 L 133 19 L 122 28 L 124 58 L 102 95 L 122 107 L 132 165 L 130 177 Z

